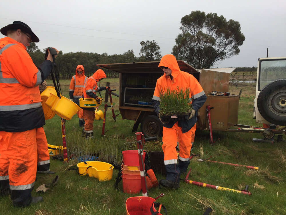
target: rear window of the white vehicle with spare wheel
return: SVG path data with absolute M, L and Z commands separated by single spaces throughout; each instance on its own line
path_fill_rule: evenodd
M 259 68 L 259 87 L 261 90 L 265 85 L 278 79 L 286 79 L 286 59 L 263 60 Z

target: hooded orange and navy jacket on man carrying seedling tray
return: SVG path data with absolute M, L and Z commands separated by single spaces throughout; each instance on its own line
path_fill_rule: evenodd
M 172 71 L 173 80 L 170 79 L 170 76 L 162 75 L 157 79 L 156 87 L 154 90 L 154 95 L 152 98 L 152 104 L 155 108 L 155 112 L 157 115 L 159 114 L 160 108 L 160 92 L 163 90 L 167 91 L 169 88 L 171 91 L 174 89 L 190 89 L 189 100 L 192 99 L 192 109 L 194 109 L 197 113 L 198 109 L 202 107 L 204 102 L 206 101 L 206 95 L 200 83 L 198 83 L 197 79 L 186 72 L 180 70 L 178 62 L 174 55 L 167 54 L 162 57 L 158 67 L 168 67 Z M 195 115 L 196 116 L 196 115 Z M 178 120 L 178 126 L 182 127 L 182 132 L 185 133 L 189 131 L 194 124 L 196 123 L 197 118 L 193 117 L 190 120 Z M 172 128 L 174 122 L 163 124 L 166 128 Z

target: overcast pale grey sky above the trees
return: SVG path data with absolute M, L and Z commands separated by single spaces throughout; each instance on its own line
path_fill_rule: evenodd
M 192 11 L 223 15 L 241 24 L 240 53 L 215 67 L 257 66 L 259 57 L 286 56 L 285 0 L 29 0 L 1 1 L 0 28 L 19 20 L 39 37 L 37 46 L 67 52 L 139 56 L 140 42 L 155 40 L 171 54 L 180 21 Z

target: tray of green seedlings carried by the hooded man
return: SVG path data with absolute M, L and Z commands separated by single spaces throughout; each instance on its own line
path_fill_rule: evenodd
M 188 112 L 192 108 L 189 94 L 190 88 L 182 89 L 178 86 L 174 90 L 167 88 L 166 92 L 161 88 L 159 107 L 162 122 L 173 122 L 178 118 L 188 119 Z

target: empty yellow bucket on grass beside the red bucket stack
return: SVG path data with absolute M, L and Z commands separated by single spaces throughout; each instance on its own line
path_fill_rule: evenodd
M 86 163 L 86 164 L 85 164 Z M 95 177 L 99 181 L 110 181 L 114 166 L 101 161 L 87 161 L 78 163 L 78 171 L 80 175 L 88 174 L 89 177 Z

